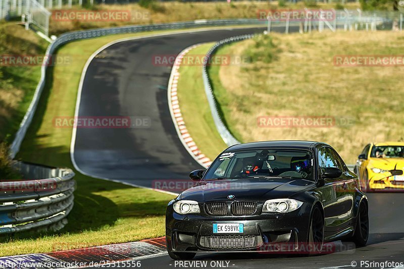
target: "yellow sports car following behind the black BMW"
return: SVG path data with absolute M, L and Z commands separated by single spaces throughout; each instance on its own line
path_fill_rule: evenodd
M 404 191 L 404 142 L 371 143 L 358 156 L 354 172 L 363 191 Z

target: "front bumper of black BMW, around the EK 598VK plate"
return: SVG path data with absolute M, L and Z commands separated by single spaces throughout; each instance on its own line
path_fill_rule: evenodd
M 308 240 L 312 205 L 305 203 L 290 213 L 262 213 L 257 216 L 214 217 L 180 215 L 168 207 L 167 246 L 173 252 L 276 251 L 279 244 L 297 249 Z M 243 224 L 242 234 L 213 233 L 213 224 Z M 282 246 L 284 248 L 284 246 Z

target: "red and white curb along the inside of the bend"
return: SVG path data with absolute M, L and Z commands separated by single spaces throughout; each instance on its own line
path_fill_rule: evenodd
M 170 80 L 168 82 L 168 105 L 170 108 L 171 118 L 173 120 L 175 129 L 177 130 L 178 137 L 180 138 L 185 149 L 189 154 L 199 163 L 201 166 L 208 168 L 212 164 L 212 160 L 201 153 L 195 141 L 192 139 L 191 135 L 186 128 L 184 119 L 182 118 L 180 103 L 178 100 L 178 80 L 180 77 L 180 65 L 182 59 L 191 49 L 200 46 L 201 44 L 196 44 L 189 46 L 182 50 L 174 61 L 173 68 L 171 70 Z

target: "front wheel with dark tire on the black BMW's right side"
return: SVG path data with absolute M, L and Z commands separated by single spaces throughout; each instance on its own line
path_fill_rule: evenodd
M 318 205 L 313 208 L 308 238 L 309 255 L 320 254 L 324 245 L 324 217 Z

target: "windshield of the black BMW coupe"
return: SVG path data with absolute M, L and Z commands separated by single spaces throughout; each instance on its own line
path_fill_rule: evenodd
M 313 180 L 311 154 L 309 151 L 284 149 L 224 152 L 211 165 L 204 180 L 254 177 Z

